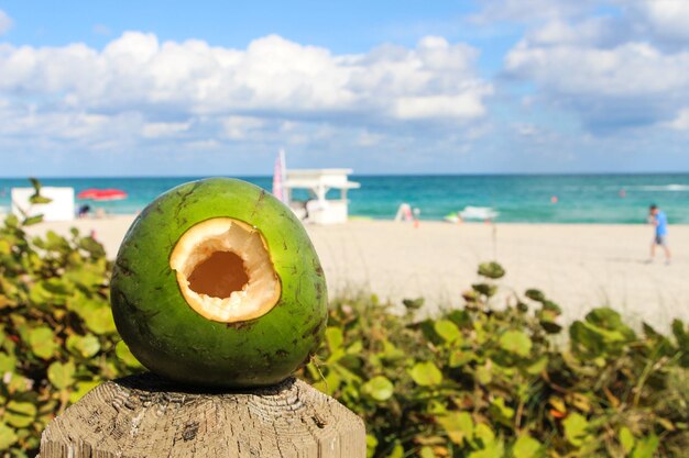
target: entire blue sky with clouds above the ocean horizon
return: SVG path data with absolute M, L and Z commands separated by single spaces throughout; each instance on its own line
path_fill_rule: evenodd
M 689 171 L 689 2 L 241 3 L 0 0 L 0 176 Z

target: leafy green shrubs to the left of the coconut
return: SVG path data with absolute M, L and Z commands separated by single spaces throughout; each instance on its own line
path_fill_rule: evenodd
M 102 246 L 23 225 L 0 227 L 0 457 L 34 456 L 56 414 L 140 367 L 112 323 Z

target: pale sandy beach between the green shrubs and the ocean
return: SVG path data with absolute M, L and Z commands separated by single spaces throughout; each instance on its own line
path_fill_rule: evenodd
M 133 216 L 42 223 L 33 233 L 95 231 L 114 257 Z M 644 225 L 459 224 L 353 221 L 307 227 L 328 278 L 330 294 L 374 292 L 381 299 L 426 298 L 427 311 L 461 303 L 478 280 L 477 266 L 497 259 L 506 287 L 537 287 L 558 302 L 566 320 L 610 304 L 635 324 L 666 329 L 689 321 L 689 226 L 670 226 L 671 265 L 661 253 L 647 264 L 652 228 Z

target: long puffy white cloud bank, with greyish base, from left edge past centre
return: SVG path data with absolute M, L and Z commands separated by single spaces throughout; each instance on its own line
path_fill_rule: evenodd
M 303 138 L 289 125 L 309 122 L 393 129 L 433 120 L 456 129 L 481 119 L 492 93 L 475 74 L 477 59 L 473 47 L 434 36 L 415 48 L 384 45 L 352 55 L 276 35 L 245 49 L 138 32 L 102 51 L 4 43 L 0 131 L 117 145 L 125 136 L 242 141 L 265 130 Z M 113 136 L 107 125 L 116 121 Z

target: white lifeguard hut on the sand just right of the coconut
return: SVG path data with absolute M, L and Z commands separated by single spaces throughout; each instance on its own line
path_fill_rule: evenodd
M 285 199 L 294 212 L 306 223 L 337 224 L 346 223 L 349 214 L 347 191 L 360 187 L 349 181 L 351 169 L 299 169 L 287 170 L 284 182 Z M 294 189 L 306 189 L 309 200 L 293 200 Z M 328 191 L 339 190 L 339 199 L 328 199 Z

